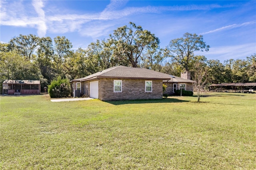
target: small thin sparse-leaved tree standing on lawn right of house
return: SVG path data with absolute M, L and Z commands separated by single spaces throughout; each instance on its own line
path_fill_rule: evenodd
M 194 83 L 194 90 L 196 90 L 197 102 L 200 102 L 208 78 L 208 67 L 206 63 L 198 62 L 194 66 L 194 71 L 194 80 L 196 81 L 196 83 Z

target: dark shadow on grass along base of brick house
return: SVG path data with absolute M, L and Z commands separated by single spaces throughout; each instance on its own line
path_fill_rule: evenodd
M 122 104 L 149 104 L 149 103 L 182 103 L 182 102 L 190 102 L 190 101 L 167 98 L 167 99 L 155 99 L 155 100 L 121 100 L 121 101 L 104 101 L 104 102 L 113 104 L 113 105 L 122 105 Z

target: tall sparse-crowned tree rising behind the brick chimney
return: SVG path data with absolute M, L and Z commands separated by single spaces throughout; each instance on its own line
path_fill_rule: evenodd
M 183 37 L 171 40 L 167 48 L 173 59 L 188 71 L 194 51 L 209 51 L 210 46 L 206 45 L 202 35 L 185 33 Z

